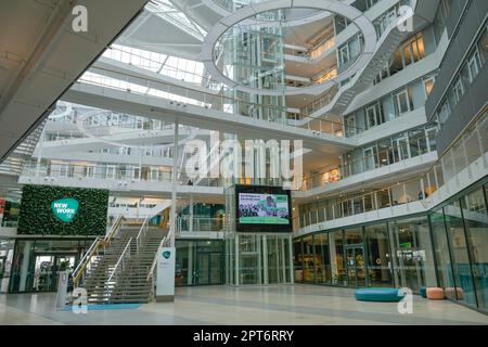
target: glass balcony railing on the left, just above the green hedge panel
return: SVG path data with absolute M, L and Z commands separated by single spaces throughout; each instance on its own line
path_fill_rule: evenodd
M 178 169 L 178 182 L 181 185 L 222 187 L 220 178 L 204 177 L 193 183 L 194 172 L 183 168 Z M 43 178 L 46 182 L 56 179 L 74 179 L 77 182 L 92 180 L 112 180 L 128 184 L 129 182 L 172 182 L 172 169 L 169 166 L 106 165 L 106 164 L 73 164 L 73 163 L 35 163 L 26 164 L 22 177 Z

